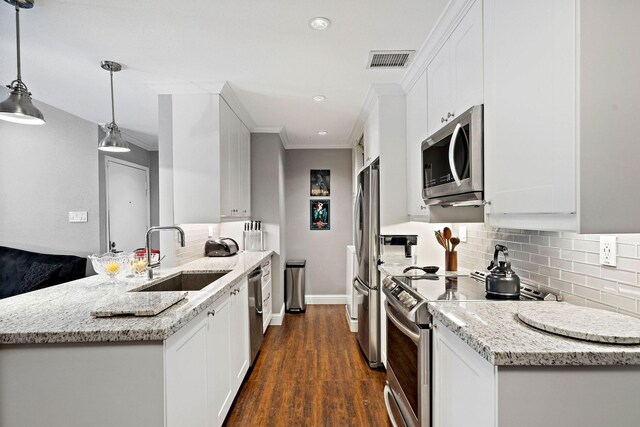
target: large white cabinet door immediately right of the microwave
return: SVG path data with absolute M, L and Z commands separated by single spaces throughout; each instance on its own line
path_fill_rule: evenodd
M 495 214 L 576 211 L 575 2 L 486 0 L 485 194 Z

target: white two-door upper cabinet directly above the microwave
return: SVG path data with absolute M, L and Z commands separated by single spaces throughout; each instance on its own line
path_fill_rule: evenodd
M 483 102 L 482 1 L 477 0 L 427 68 L 428 133 Z

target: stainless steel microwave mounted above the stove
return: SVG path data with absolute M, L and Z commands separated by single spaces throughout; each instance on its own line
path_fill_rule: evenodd
M 422 198 L 427 205 L 483 205 L 483 106 L 455 117 L 422 143 Z

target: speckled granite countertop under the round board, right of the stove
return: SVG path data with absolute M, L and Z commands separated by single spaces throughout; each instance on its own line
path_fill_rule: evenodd
M 563 302 L 431 302 L 429 312 L 496 366 L 640 365 L 640 345 L 604 344 L 563 337 L 518 319 L 533 304 Z M 595 310 L 595 309 L 594 309 Z

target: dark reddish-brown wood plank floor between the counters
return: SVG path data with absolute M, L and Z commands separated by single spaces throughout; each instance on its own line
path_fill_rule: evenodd
M 310 305 L 270 326 L 227 426 L 390 426 L 385 373 L 369 369 L 343 305 Z

